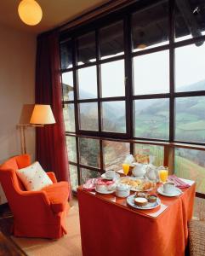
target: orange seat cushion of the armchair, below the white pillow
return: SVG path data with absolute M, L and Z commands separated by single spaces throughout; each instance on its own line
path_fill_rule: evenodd
M 65 211 L 69 195 L 69 185 L 67 182 L 54 183 L 42 190 L 46 192 L 53 212 Z

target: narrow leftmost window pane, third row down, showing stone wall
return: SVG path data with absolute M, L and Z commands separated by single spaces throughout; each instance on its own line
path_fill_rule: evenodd
M 65 131 L 76 131 L 74 104 L 65 104 L 63 108 Z

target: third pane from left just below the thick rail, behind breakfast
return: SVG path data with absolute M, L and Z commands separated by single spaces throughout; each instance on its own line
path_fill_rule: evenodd
M 103 141 L 104 170 L 122 169 L 122 162 L 129 153 L 129 143 Z

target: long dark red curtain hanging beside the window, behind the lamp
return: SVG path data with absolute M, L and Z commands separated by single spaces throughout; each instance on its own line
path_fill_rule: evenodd
M 69 181 L 58 38 L 58 32 L 45 33 L 37 38 L 36 103 L 51 105 L 56 124 L 37 127 L 36 148 L 37 160 L 44 170 L 54 172 L 58 181 Z

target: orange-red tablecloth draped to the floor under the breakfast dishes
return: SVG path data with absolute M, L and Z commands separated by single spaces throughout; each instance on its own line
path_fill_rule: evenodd
M 126 199 L 78 188 L 83 256 L 185 255 L 195 189 L 194 183 L 179 197 L 159 195 L 166 209 L 154 218 L 148 213 L 157 210 L 134 210 Z

